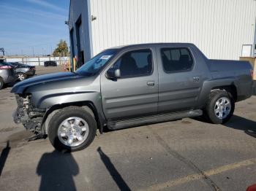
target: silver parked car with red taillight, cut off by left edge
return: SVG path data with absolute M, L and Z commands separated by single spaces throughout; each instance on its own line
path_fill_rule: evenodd
M 4 84 L 15 82 L 15 68 L 10 63 L 0 60 L 0 90 Z

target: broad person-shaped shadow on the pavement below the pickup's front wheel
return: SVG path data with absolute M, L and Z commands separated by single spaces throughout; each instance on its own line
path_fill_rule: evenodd
M 73 176 L 79 174 L 79 167 L 71 153 L 54 150 L 42 155 L 37 174 L 41 176 L 39 190 L 76 190 Z

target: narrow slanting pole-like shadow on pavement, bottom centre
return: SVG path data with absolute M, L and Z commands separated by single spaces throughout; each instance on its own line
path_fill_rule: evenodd
M 124 179 L 121 177 L 121 174 L 118 173 L 115 166 L 111 162 L 108 155 L 106 155 L 101 147 L 97 149 L 97 152 L 99 152 L 100 158 L 102 162 L 104 163 L 105 167 L 108 169 L 109 174 L 112 176 L 113 180 L 116 182 L 117 186 L 120 190 L 131 190 L 126 182 L 124 182 Z

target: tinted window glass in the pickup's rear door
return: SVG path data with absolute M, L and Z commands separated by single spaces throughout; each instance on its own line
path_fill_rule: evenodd
M 193 59 L 187 48 L 162 48 L 161 57 L 162 66 L 167 73 L 192 69 Z

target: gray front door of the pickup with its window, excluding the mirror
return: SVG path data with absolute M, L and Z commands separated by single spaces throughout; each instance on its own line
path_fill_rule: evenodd
M 102 106 L 108 120 L 157 114 L 158 71 L 154 48 L 127 50 L 102 73 Z M 109 79 L 108 70 L 120 69 L 121 77 Z

